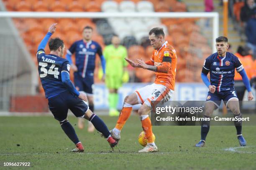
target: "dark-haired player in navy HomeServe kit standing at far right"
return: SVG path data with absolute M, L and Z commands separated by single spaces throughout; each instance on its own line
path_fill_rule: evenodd
M 249 79 L 246 71 L 243 69 L 242 63 L 238 57 L 227 52 L 228 38 L 220 36 L 216 38 L 217 53 L 206 58 L 202 68 L 201 77 L 205 85 L 209 88 L 208 96 L 205 103 L 205 118 L 208 120 L 202 121 L 201 125 L 201 140 L 195 147 L 203 147 L 205 138 L 210 129 L 210 117 L 216 107 L 220 106 L 221 100 L 224 101 L 234 114 L 234 117 L 242 117 L 239 101 L 234 89 L 235 69 L 242 76 L 243 83 L 248 90 L 248 100 L 253 99 Z M 210 81 L 207 74 L 210 71 Z M 237 138 L 241 146 L 246 146 L 246 140 L 242 136 L 242 121 L 234 121 L 237 131 Z

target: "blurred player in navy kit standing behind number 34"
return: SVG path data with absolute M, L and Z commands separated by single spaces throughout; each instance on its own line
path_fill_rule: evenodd
M 83 39 L 74 42 L 71 47 L 67 50 L 66 58 L 71 64 L 71 68 L 74 71 L 74 85 L 78 91 L 83 91 L 87 94 L 89 108 L 94 112 L 93 104 L 93 91 L 92 85 L 94 83 L 94 69 L 95 69 L 95 58 L 96 54 L 100 56 L 103 76 L 102 81 L 105 80 L 105 59 L 102 55 L 102 48 L 100 45 L 92 41 L 92 27 L 86 26 L 83 29 Z M 75 53 L 75 61 L 73 64 L 71 56 Z M 78 119 L 78 127 L 84 128 L 84 119 Z M 88 132 L 93 132 L 94 127 L 92 124 L 88 124 Z

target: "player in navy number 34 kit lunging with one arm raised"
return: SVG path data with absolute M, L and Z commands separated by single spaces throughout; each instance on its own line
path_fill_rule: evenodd
M 76 148 L 72 152 L 83 152 L 84 147 L 67 119 L 68 109 L 76 117 L 81 117 L 92 122 L 94 127 L 107 138 L 110 146 L 115 147 L 117 142 L 110 135 L 108 127 L 97 115 L 92 113 L 87 104 L 84 103 L 84 101 L 87 101 L 86 95 L 79 93 L 69 79 L 69 61 L 61 58 L 65 50 L 64 42 L 59 38 L 53 38 L 49 41 L 50 54 L 44 52 L 46 43 L 55 30 L 56 23 L 50 26 L 48 33 L 38 46 L 38 52 L 36 54 L 38 72 L 45 96 L 49 101 L 49 109 L 54 115 L 54 118 L 59 121 L 63 131 L 76 145 Z

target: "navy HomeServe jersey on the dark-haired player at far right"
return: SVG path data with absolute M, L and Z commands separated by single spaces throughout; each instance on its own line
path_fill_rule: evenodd
M 216 86 L 215 92 L 234 90 L 234 76 L 236 71 L 243 70 L 243 65 L 234 54 L 227 52 L 225 57 L 214 53 L 206 58 L 202 73 L 210 71 L 210 83 Z

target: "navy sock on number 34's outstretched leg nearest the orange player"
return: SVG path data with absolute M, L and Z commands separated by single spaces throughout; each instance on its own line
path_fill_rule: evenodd
M 107 138 L 110 135 L 110 132 L 108 130 L 108 127 L 106 124 L 98 117 L 96 114 L 92 114 L 92 116 L 89 119 L 90 122 L 92 122 L 93 126 L 97 131 L 102 133 L 105 138 Z

